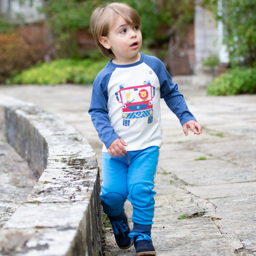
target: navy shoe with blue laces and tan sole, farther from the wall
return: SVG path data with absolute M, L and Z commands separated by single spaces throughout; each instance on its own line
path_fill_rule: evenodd
M 134 241 L 136 256 L 156 255 L 152 239 L 149 235 L 144 233 L 131 232 L 129 237 Z

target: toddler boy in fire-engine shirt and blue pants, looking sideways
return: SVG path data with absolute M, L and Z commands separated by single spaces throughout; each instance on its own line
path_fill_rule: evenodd
M 140 52 L 141 21 L 123 3 L 111 3 L 92 13 L 90 30 L 105 57 L 111 59 L 95 78 L 89 114 L 104 143 L 100 198 L 111 221 L 116 243 L 136 255 L 155 255 L 151 228 L 154 216 L 154 176 L 161 147 L 160 98 L 176 114 L 185 135 L 201 126 L 190 113 L 164 64 Z M 133 205 L 133 229 L 124 203 Z

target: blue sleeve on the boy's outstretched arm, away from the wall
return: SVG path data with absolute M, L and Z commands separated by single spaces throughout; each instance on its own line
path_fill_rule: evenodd
M 159 79 L 160 97 L 164 98 L 169 109 L 171 109 L 180 120 L 180 124 L 183 125 L 190 120 L 196 121 L 195 117 L 189 111 L 183 95 L 178 90 L 177 83 L 172 82 L 171 76 L 166 70 L 164 63 L 154 57 L 154 65 L 151 65 L 151 67 Z

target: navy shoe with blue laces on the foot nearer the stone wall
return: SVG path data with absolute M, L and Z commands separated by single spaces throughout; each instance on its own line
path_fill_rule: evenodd
M 121 220 L 116 220 L 114 217 L 110 216 L 108 217 L 112 225 L 118 247 L 122 250 L 130 248 L 133 245 L 133 242 L 131 242 L 130 237 L 128 237 L 130 228 L 126 213 L 123 213 L 123 218 Z

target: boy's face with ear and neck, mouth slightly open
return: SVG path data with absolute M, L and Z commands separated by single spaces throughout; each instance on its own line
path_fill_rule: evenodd
M 113 63 L 132 64 L 140 60 L 142 35 L 138 26 L 131 26 L 123 17 L 117 16 L 109 29 L 108 36 L 102 36 L 100 43 L 111 49 L 115 55 Z

